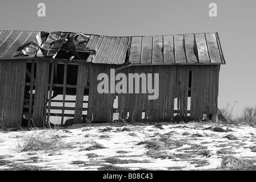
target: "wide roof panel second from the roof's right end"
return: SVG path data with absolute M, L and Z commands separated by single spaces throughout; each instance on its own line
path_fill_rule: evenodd
M 205 34 L 195 34 L 199 63 L 210 63 Z

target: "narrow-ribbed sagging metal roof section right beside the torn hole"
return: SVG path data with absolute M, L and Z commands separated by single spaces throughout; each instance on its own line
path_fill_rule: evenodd
M 86 48 L 95 51 L 92 63 L 123 64 L 130 37 L 91 35 Z

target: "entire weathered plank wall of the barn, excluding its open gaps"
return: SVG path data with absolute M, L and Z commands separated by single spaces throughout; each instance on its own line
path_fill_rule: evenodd
M 47 115 L 49 86 L 52 88 L 52 82 L 49 84 L 51 70 L 48 59 L 35 61 L 37 66 L 33 121 L 36 126 L 42 126 Z M 107 73 L 110 76 L 111 68 L 121 68 L 115 72 L 115 75 L 125 73 L 127 89 L 129 89 L 129 73 L 159 73 L 158 99 L 149 100 L 149 93 L 141 92 L 99 94 L 97 86 L 101 80 L 97 80 L 97 77 L 100 73 Z M 192 73 L 191 88 L 189 88 L 189 71 Z M 26 60 L 0 61 L 0 74 L 0 118 L 4 117 L 5 127 L 17 127 L 21 125 L 22 119 Z M 93 118 L 94 122 L 109 122 L 113 119 L 113 103 L 116 96 L 118 96 L 119 117 L 125 119 L 129 115 L 130 121 L 142 121 L 142 113 L 145 113 L 146 119 L 171 119 L 175 113 L 184 116 L 190 114 L 191 117 L 200 119 L 202 114 L 206 113 L 207 107 L 210 114 L 217 113 L 218 79 L 219 65 L 147 65 L 126 68 L 119 65 L 88 64 L 78 61 L 74 123 L 82 122 L 82 110 L 85 109 L 82 108 L 83 91 L 86 86 L 89 86 L 87 118 Z M 115 85 L 118 82 L 115 81 Z M 191 104 L 190 109 L 187 109 L 189 90 L 191 90 Z M 175 100 L 177 102 L 174 102 Z M 174 107 L 178 109 L 174 110 Z

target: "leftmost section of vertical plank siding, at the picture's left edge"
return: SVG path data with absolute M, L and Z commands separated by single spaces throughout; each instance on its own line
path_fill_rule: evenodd
M 21 126 L 26 61 L 0 61 L 0 119 L 4 127 Z

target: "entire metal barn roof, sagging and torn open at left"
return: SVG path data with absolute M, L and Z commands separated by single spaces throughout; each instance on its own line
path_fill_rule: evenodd
M 0 59 L 57 56 L 60 50 L 89 52 L 100 64 L 225 64 L 218 33 L 161 36 L 101 36 L 61 31 L 0 30 Z

